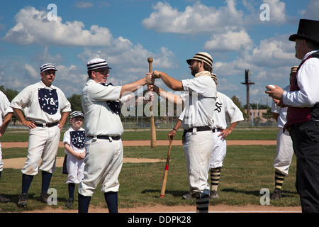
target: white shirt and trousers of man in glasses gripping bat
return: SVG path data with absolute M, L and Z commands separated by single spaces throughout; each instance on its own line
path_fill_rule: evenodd
M 118 192 L 118 175 L 123 165 L 123 133 L 120 116 L 108 105 L 120 100 L 121 86 L 104 86 L 87 79 L 82 91 L 85 118 L 86 157 L 84 178 L 79 184 L 79 194 L 92 196 L 101 182 L 102 192 Z M 101 135 L 103 138 L 98 138 Z

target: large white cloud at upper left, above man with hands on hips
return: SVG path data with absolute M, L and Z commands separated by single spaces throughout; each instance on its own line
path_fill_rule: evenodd
M 57 21 L 48 21 L 47 12 L 30 6 L 21 9 L 15 20 L 16 26 L 6 33 L 4 39 L 20 45 L 108 46 L 113 41 L 108 28 L 93 25 L 90 30 L 85 30 L 81 21 L 62 23 L 59 16 Z

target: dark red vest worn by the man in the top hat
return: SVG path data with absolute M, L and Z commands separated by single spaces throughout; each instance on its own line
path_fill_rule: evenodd
M 314 52 L 312 55 L 309 55 L 301 64 L 299 65 L 298 70 L 300 69 L 301 65 L 303 65 L 306 60 L 308 60 L 311 57 L 317 57 L 319 58 L 319 52 Z M 318 72 L 319 74 L 319 72 Z M 301 77 L 301 75 L 298 75 Z M 298 87 L 297 77 L 293 78 L 290 85 L 290 91 L 299 91 L 300 88 Z M 293 107 L 288 106 L 287 111 L 287 123 L 284 126 L 284 130 L 288 126 L 292 126 L 295 123 L 303 123 L 310 120 L 319 120 L 319 104 L 315 104 L 313 107 Z

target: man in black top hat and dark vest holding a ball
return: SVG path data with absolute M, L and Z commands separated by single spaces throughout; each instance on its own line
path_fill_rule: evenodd
M 296 57 L 302 60 L 290 92 L 267 86 L 278 105 L 288 106 L 287 123 L 297 158 L 296 189 L 303 212 L 319 212 L 319 21 L 301 19 Z

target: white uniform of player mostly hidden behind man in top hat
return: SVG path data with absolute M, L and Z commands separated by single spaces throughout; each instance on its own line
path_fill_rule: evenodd
M 290 85 L 284 87 L 284 91 L 290 91 Z M 276 158 L 274 160 L 274 168 L 281 172 L 283 175 L 288 175 L 291 159 L 293 157 L 293 144 L 289 131 L 283 132 L 284 125 L 286 124 L 288 107 L 281 108 L 272 101 L 272 113 L 279 114 L 277 126 L 279 128 L 277 134 L 277 148 Z

